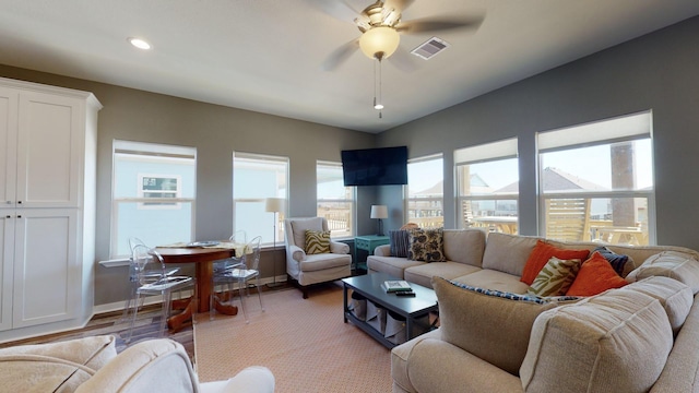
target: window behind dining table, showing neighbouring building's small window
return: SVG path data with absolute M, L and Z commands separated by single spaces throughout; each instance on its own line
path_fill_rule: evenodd
M 130 254 L 128 239 L 150 246 L 194 237 L 197 150 L 115 141 L 111 258 Z

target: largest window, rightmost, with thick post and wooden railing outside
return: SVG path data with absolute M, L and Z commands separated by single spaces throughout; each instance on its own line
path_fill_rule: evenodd
M 649 245 L 651 112 L 537 135 L 542 228 L 561 240 Z

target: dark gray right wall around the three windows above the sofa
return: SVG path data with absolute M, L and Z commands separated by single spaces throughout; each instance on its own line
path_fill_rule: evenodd
M 445 154 L 445 226 L 454 227 L 454 148 L 518 136 L 520 231 L 536 235 L 535 133 L 652 109 L 656 242 L 699 249 L 697 37 L 694 17 L 383 132 L 378 144 Z

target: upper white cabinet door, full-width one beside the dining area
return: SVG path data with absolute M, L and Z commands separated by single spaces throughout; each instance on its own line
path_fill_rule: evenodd
M 17 207 L 79 206 L 83 111 L 75 98 L 20 93 Z

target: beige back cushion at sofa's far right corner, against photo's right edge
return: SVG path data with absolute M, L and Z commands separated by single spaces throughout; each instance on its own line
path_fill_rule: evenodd
M 663 251 L 649 257 L 626 277 L 629 282 L 650 276 L 667 276 L 685 283 L 694 294 L 699 293 L 699 261 L 684 252 Z

